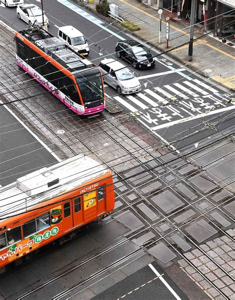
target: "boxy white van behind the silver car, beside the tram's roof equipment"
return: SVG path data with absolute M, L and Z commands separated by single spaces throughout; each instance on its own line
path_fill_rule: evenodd
M 65 42 L 67 45 L 71 46 L 81 55 L 89 54 L 89 47 L 83 34 L 72 26 L 59 27 L 58 31 L 59 40 Z

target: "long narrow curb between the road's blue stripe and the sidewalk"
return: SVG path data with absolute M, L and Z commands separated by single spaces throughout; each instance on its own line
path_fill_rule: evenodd
M 110 22 L 110 18 L 107 18 L 101 14 L 99 14 L 96 10 L 94 10 L 93 8 L 89 7 L 88 5 L 82 3 L 80 0 L 69 0 L 70 2 L 72 2 L 75 5 L 78 6 L 82 6 L 83 8 L 86 8 L 87 10 L 89 10 L 90 12 L 92 12 L 95 16 L 97 16 L 99 19 L 105 21 L 105 22 Z M 161 47 L 155 45 L 154 43 L 148 42 L 146 41 L 143 37 L 139 36 L 138 34 L 134 33 L 133 31 L 130 31 L 124 27 L 119 26 L 116 23 L 113 23 L 112 26 L 116 27 L 116 29 L 118 30 L 122 30 L 128 34 L 133 35 L 135 38 L 141 40 L 144 43 L 149 44 L 151 47 L 156 48 L 157 50 L 159 50 L 160 52 L 165 51 L 163 50 Z M 162 53 L 162 55 L 164 55 L 165 53 Z M 166 55 L 169 55 L 169 57 L 173 58 L 174 60 L 176 60 L 177 62 L 179 62 L 182 65 L 186 65 L 188 69 L 191 69 L 193 72 L 196 72 L 198 74 L 200 74 L 201 76 L 205 77 L 205 78 L 210 78 L 208 75 L 206 75 L 204 72 L 202 72 L 201 70 L 198 70 L 196 67 L 190 66 L 187 63 L 185 63 L 183 60 L 179 59 L 177 56 L 173 55 L 171 52 L 166 53 Z M 218 85 L 219 83 L 217 81 L 215 81 L 214 79 L 210 78 L 210 81 L 212 81 L 213 83 L 215 83 L 216 85 Z M 234 92 L 233 88 L 224 86 L 223 84 L 220 84 L 223 88 L 225 88 L 226 90 L 231 90 Z

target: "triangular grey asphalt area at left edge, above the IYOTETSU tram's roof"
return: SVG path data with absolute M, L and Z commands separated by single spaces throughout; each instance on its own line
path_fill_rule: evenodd
M 1 186 L 58 162 L 44 145 L 3 106 L 0 106 L 0 141 Z

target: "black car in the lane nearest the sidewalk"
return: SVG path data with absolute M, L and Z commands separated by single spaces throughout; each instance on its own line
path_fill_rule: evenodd
M 115 50 L 118 58 L 124 58 L 133 64 L 134 68 L 145 69 L 155 66 L 155 60 L 149 49 L 136 41 L 119 41 Z

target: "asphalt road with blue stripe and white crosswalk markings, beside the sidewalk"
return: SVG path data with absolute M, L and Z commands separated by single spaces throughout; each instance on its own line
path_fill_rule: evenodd
M 37 0 L 25 1 L 28 2 L 40 5 Z M 58 27 L 64 25 L 72 25 L 84 34 L 91 49 L 89 59 L 96 64 L 103 57 L 117 59 L 117 41 L 129 39 L 112 25 L 93 17 L 67 0 L 45 1 L 44 10 L 50 20 L 48 30 L 55 36 L 58 34 Z M 15 30 L 25 28 L 26 23 L 17 19 L 15 8 L 1 7 L 1 11 L 6 23 L 9 22 Z M 155 50 L 152 52 L 159 54 Z M 126 62 L 124 64 L 127 65 Z M 106 94 L 124 112 L 132 113 L 141 125 L 163 142 L 170 142 L 173 147 L 181 149 L 211 134 L 210 126 L 205 126 L 205 122 L 216 125 L 215 130 L 233 126 L 231 113 L 234 105 L 228 104 L 225 92 L 219 85 L 213 86 L 207 79 L 199 78 L 163 56 L 157 57 L 156 67 L 153 69 L 130 68 L 142 84 L 141 92 L 120 95 L 113 87 L 106 86 Z M 205 128 L 209 130 L 204 130 Z M 190 138 L 185 138 L 189 134 Z

